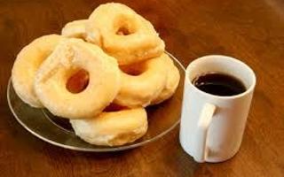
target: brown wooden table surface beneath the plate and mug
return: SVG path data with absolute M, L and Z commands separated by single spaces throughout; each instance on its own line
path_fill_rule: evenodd
M 64 150 L 31 135 L 6 100 L 12 64 L 40 35 L 86 19 L 94 0 L 0 0 L 0 176 L 284 176 L 284 2 L 280 0 L 123 1 L 153 22 L 184 64 L 225 54 L 256 72 L 241 150 L 220 164 L 197 164 L 178 143 L 178 127 L 144 147 L 114 153 Z

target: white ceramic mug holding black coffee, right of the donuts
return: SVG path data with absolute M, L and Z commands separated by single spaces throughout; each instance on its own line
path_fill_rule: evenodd
M 234 76 L 246 91 L 235 96 L 215 96 L 193 85 L 195 77 L 211 72 Z M 237 153 L 255 86 L 255 73 L 235 58 L 211 55 L 187 66 L 179 140 L 195 161 L 221 162 Z

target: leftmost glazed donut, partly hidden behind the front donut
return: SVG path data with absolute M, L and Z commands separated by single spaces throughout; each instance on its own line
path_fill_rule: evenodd
M 30 106 L 40 108 L 34 90 L 36 71 L 59 43 L 60 35 L 43 35 L 20 50 L 12 66 L 12 86 L 20 99 Z

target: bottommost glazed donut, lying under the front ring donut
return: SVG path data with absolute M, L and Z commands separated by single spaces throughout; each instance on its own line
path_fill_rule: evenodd
M 70 119 L 70 123 L 85 142 L 103 146 L 118 146 L 134 142 L 146 134 L 148 123 L 144 108 L 118 112 L 102 112 L 92 119 Z

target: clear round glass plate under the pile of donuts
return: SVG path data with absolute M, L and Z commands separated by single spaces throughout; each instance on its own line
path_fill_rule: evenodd
M 167 54 L 170 55 L 168 52 Z M 31 134 L 36 135 L 36 137 L 43 141 L 56 146 L 70 150 L 97 152 L 136 148 L 161 138 L 179 123 L 185 67 L 180 64 L 177 58 L 174 58 L 172 55 L 170 55 L 170 58 L 174 60 L 180 73 L 180 81 L 176 93 L 162 104 L 147 107 L 148 130 L 146 135 L 136 142 L 131 142 L 122 146 L 97 146 L 88 142 L 83 142 L 83 140 L 75 135 L 68 119 L 58 118 L 53 116 L 51 112 L 48 112 L 46 109 L 36 109 L 22 102 L 12 88 L 11 79 L 7 89 L 8 104 L 14 117 L 20 122 L 22 127 L 25 127 Z

